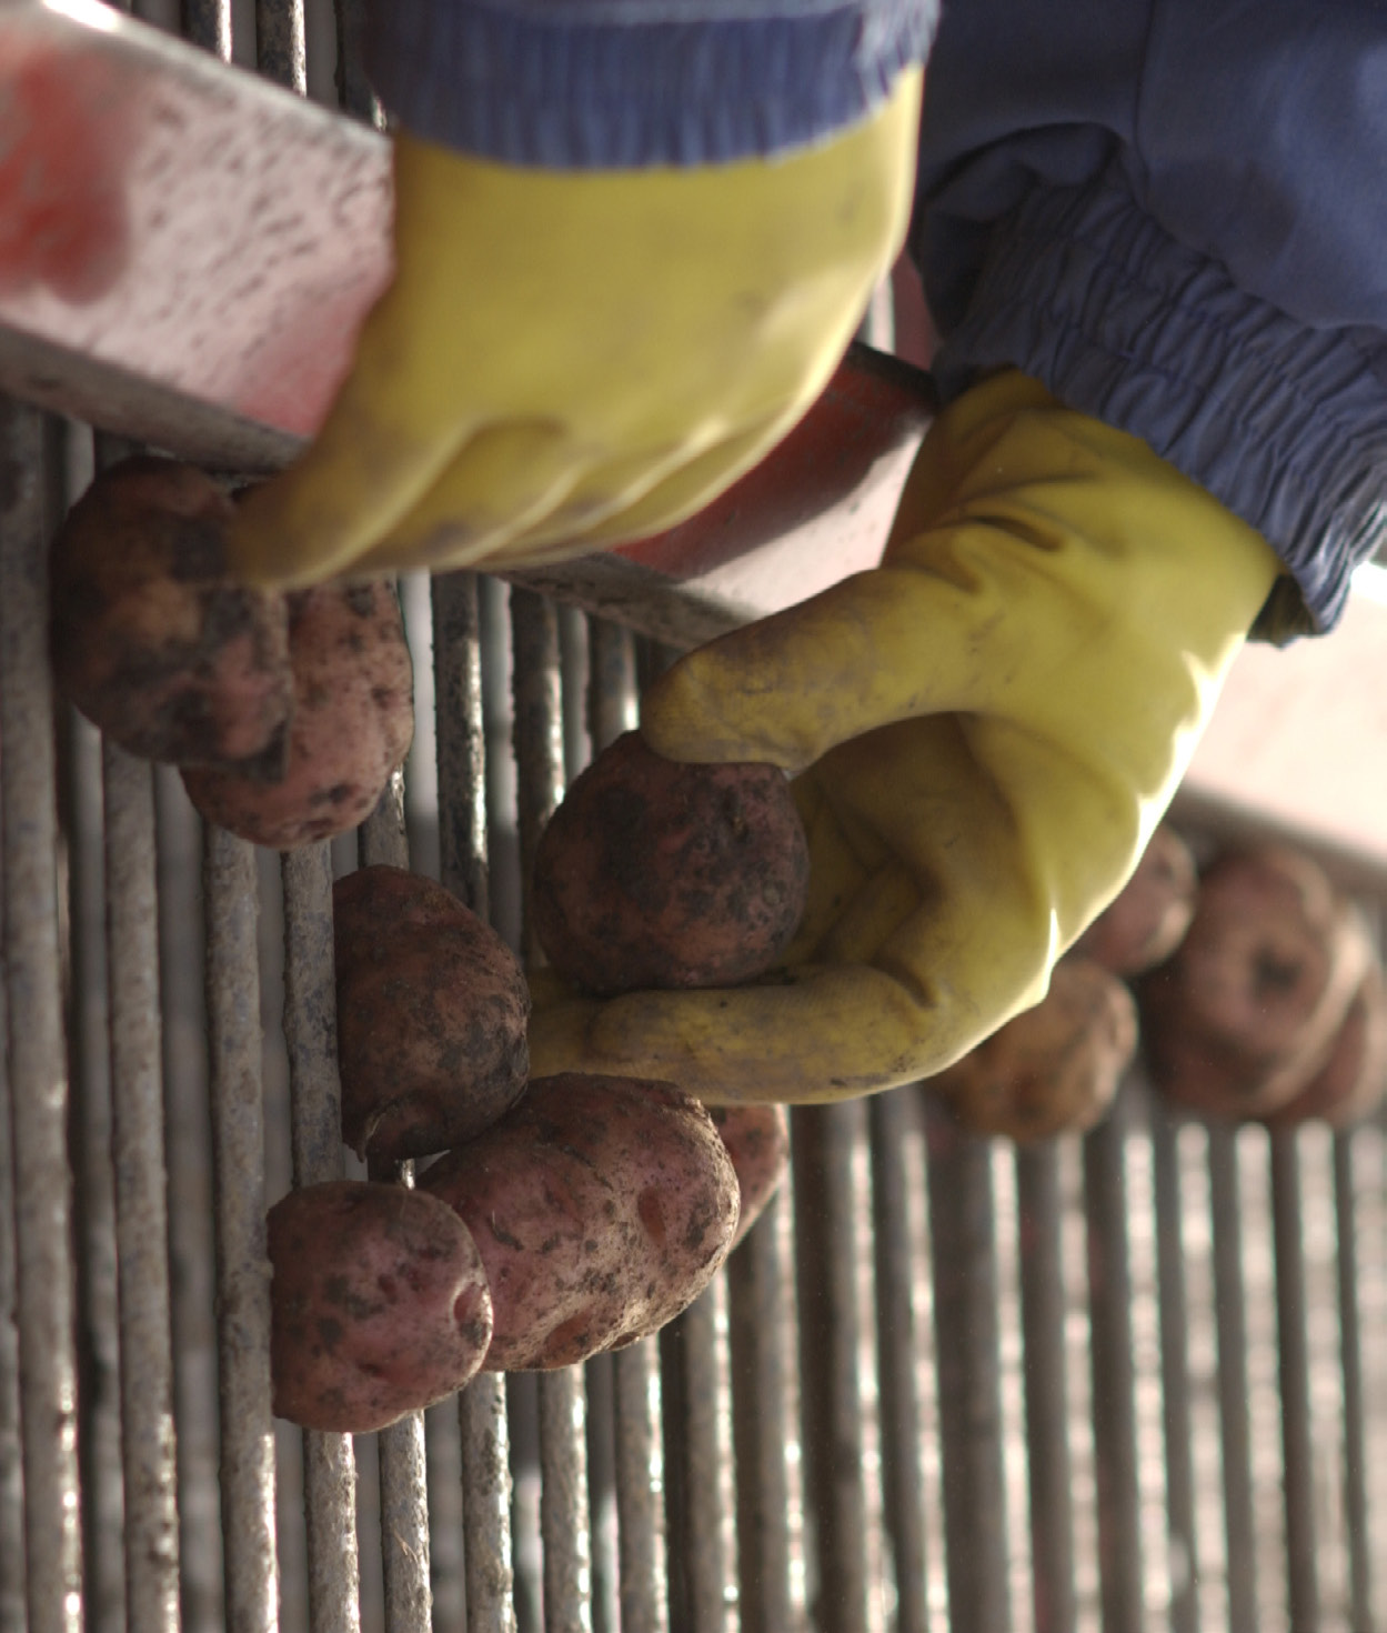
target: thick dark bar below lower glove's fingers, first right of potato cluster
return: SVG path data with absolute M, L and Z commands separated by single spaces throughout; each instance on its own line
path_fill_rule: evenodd
M 811 1617 L 832 1633 L 865 1633 L 866 1494 L 852 1158 L 865 1137 L 866 1112 L 860 1101 L 796 1107 L 790 1128 L 804 1497 L 818 1563 Z

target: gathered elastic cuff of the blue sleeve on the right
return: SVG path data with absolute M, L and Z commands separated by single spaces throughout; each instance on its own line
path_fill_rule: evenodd
M 1387 542 L 1387 358 L 1310 330 L 1170 238 L 1119 167 L 1039 188 L 992 235 L 933 363 L 943 397 L 1013 366 L 1139 436 L 1255 527 L 1294 575 L 1260 634 L 1332 627 L 1356 565 Z

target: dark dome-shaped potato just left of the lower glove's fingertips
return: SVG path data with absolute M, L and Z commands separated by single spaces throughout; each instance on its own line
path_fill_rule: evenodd
M 401 867 L 333 887 L 343 1138 L 400 1161 L 481 1133 L 525 1088 L 530 994 L 511 949 Z

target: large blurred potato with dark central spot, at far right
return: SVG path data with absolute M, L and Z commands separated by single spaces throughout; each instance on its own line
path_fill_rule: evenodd
M 1363 921 L 1312 857 L 1224 852 L 1175 957 L 1137 983 L 1152 1081 L 1214 1117 L 1274 1110 L 1323 1065 L 1369 959 Z

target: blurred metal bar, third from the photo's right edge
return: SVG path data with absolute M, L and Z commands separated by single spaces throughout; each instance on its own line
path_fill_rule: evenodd
M 1237 1132 L 1209 1125 L 1209 1208 L 1214 1226 L 1214 1318 L 1219 1334 L 1219 1421 L 1229 1633 L 1256 1630 L 1256 1545 L 1252 1517 L 1252 1427 L 1247 1403 L 1247 1310 L 1242 1274 Z

